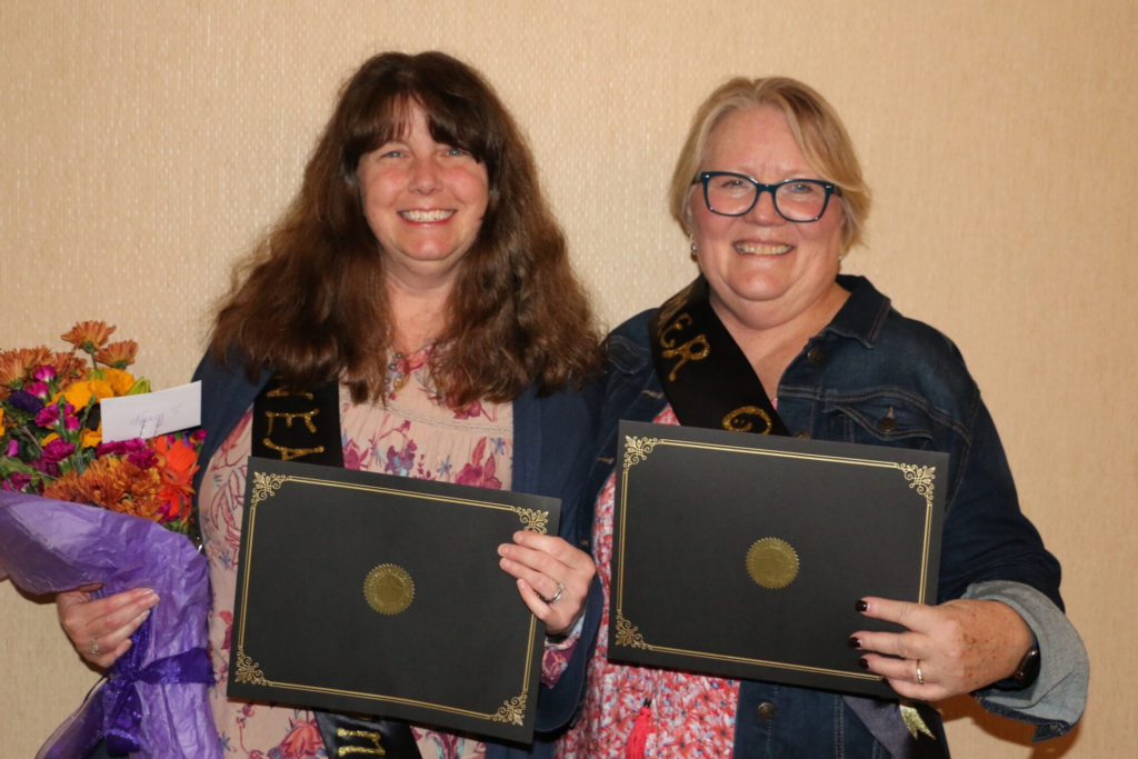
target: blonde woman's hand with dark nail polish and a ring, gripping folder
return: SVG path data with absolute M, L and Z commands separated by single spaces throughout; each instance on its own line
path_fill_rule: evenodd
M 866 653 L 863 666 L 884 675 L 907 699 L 939 701 L 1011 677 L 1033 640 L 1023 618 L 997 601 L 958 599 L 937 607 L 877 597 L 861 601 L 866 617 L 908 628 L 904 633 L 859 630 L 850 638 L 853 647 L 876 652 Z M 918 667 L 924 685 L 918 682 Z

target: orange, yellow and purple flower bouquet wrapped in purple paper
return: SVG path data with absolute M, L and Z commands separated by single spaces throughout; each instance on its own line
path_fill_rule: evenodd
M 150 391 L 127 371 L 138 345 L 108 345 L 114 329 L 76 324 L 69 352 L 0 352 L 0 578 L 34 594 L 98 583 L 94 596 L 149 587 L 160 599 L 38 757 L 84 757 L 105 739 L 112 753 L 220 758 L 208 571 L 188 538 L 204 434 L 104 442 L 100 402 Z

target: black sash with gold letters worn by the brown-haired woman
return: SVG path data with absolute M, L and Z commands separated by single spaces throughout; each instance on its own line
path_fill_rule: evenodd
M 273 378 L 253 402 L 253 455 L 344 467 L 339 383 L 295 391 Z M 422 759 L 405 721 L 313 711 L 329 757 Z

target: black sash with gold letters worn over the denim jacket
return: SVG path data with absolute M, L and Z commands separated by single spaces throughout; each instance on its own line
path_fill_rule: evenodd
M 790 435 L 751 362 L 711 307 L 702 275 L 660 307 L 649 323 L 649 340 L 657 377 L 681 424 Z M 912 736 L 897 702 L 855 695 L 842 699 L 894 759 L 948 756 L 940 720 L 927 704 L 905 706 L 921 713 L 937 740 Z

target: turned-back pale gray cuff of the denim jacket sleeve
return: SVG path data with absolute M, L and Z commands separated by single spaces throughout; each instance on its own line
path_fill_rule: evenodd
M 1074 727 L 1087 707 L 1090 660 L 1066 616 L 1046 595 L 1022 583 L 976 583 L 964 597 L 1012 607 L 1039 642 L 1036 682 L 1022 691 L 976 691 L 973 695 L 980 704 L 995 715 L 1036 725 L 1033 741 L 1057 737 Z

